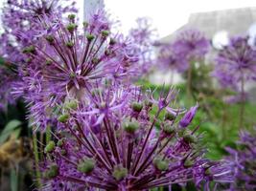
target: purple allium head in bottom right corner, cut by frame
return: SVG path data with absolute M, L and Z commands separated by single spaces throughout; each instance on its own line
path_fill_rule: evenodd
M 227 148 L 230 156 L 227 161 L 233 165 L 235 181 L 231 190 L 256 189 L 256 128 L 251 132 L 242 132 L 238 141 L 238 148 Z

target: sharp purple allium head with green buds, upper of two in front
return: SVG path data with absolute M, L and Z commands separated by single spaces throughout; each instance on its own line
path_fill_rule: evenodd
M 26 97 L 32 117 L 42 127 L 48 120 L 43 118 L 53 116 L 65 99 L 81 101 L 93 85 L 123 80 L 136 72 L 132 66 L 138 59 L 130 52 L 131 45 L 110 32 L 104 11 L 95 12 L 81 28 L 75 18 L 70 14 L 68 22 L 43 21 L 45 30 L 38 42 L 23 49 L 23 84 L 18 83 L 14 93 Z M 24 39 L 29 40 L 26 35 Z

